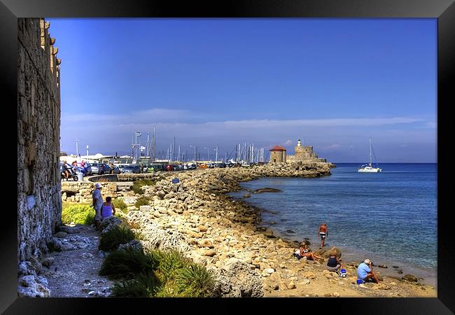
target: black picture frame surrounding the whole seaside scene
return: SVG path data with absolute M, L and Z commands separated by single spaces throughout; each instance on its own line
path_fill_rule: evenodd
M 127 1 L 127 0 L 0 0 L 0 70 L 3 93 L 3 148 L 6 154 L 14 150 L 12 132 L 17 130 L 17 18 L 437 18 L 437 164 L 451 167 L 447 150 L 451 130 L 449 109 L 454 102 L 455 4 L 453 0 L 302 0 L 302 1 Z M 7 111 L 11 111 L 8 115 Z M 10 118 L 12 117 L 12 118 Z M 9 121 L 9 124 L 6 124 Z M 17 131 L 15 131 L 17 133 Z M 3 149 L 5 150 L 5 149 Z M 14 156 L 14 154 L 13 154 Z M 7 183 L 6 196 L 13 196 L 15 188 L 14 158 L 8 158 L 3 180 Z M 171 311 L 236 311 L 243 306 L 252 311 L 349 312 L 370 314 L 453 314 L 455 312 L 454 245 L 451 241 L 451 207 L 448 192 L 449 174 L 437 169 L 437 298 L 285 298 L 263 299 L 125 299 L 125 298 L 20 298 L 17 296 L 17 213 L 14 200 L 3 209 L 8 219 L 2 222 L 0 266 L 0 311 L 4 314 L 82 314 L 92 313 L 97 307 L 103 312 L 158 311 L 158 306 Z M 17 193 L 17 192 L 16 192 Z M 6 199 L 9 200 L 8 197 Z M 447 204 L 447 206 L 446 206 Z M 17 206 L 16 206 L 17 208 Z M 418 234 L 419 231 L 416 231 Z M 174 302 L 178 302 L 174 304 Z M 200 304 L 209 304 L 205 306 Z M 182 308 L 183 306 L 183 308 Z M 212 307 L 213 306 L 213 307 Z M 240 308 L 239 308 L 240 307 Z M 162 311 L 162 310 L 161 310 Z

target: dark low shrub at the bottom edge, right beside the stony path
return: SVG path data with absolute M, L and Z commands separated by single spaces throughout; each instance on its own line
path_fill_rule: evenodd
M 132 280 L 115 281 L 112 289 L 113 297 L 153 297 L 160 288 L 160 281 L 155 276 L 139 274 Z

